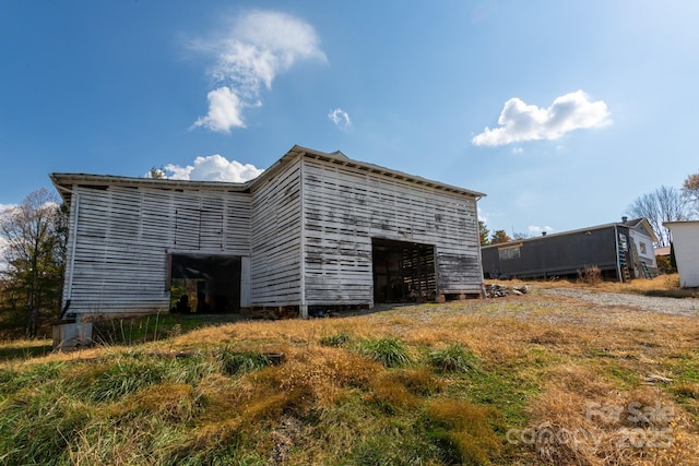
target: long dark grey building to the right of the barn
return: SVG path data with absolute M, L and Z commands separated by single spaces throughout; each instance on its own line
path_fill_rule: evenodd
M 657 274 L 656 241 L 647 219 L 623 217 L 620 223 L 484 246 L 483 271 L 488 278 L 550 278 L 595 266 L 619 282 L 652 278 Z

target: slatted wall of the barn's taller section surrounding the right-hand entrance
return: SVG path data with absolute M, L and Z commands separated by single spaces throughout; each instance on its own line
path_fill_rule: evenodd
M 304 160 L 308 306 L 372 303 L 371 238 L 436 246 L 440 294 L 481 292 L 476 201 Z

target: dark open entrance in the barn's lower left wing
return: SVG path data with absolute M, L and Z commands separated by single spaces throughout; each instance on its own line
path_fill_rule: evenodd
M 169 272 L 174 312 L 240 310 L 240 258 L 173 254 Z

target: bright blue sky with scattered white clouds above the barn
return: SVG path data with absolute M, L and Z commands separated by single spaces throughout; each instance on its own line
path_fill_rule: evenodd
M 699 170 L 699 2 L 0 0 L 0 204 L 52 171 L 239 181 L 294 144 L 538 235 Z

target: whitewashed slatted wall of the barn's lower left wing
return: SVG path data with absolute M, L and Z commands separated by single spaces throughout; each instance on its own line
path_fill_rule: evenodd
M 168 310 L 168 251 L 249 255 L 249 194 L 123 187 L 74 192 L 75 253 L 63 291 L 69 312 Z M 71 239 L 69 249 L 70 258 Z

